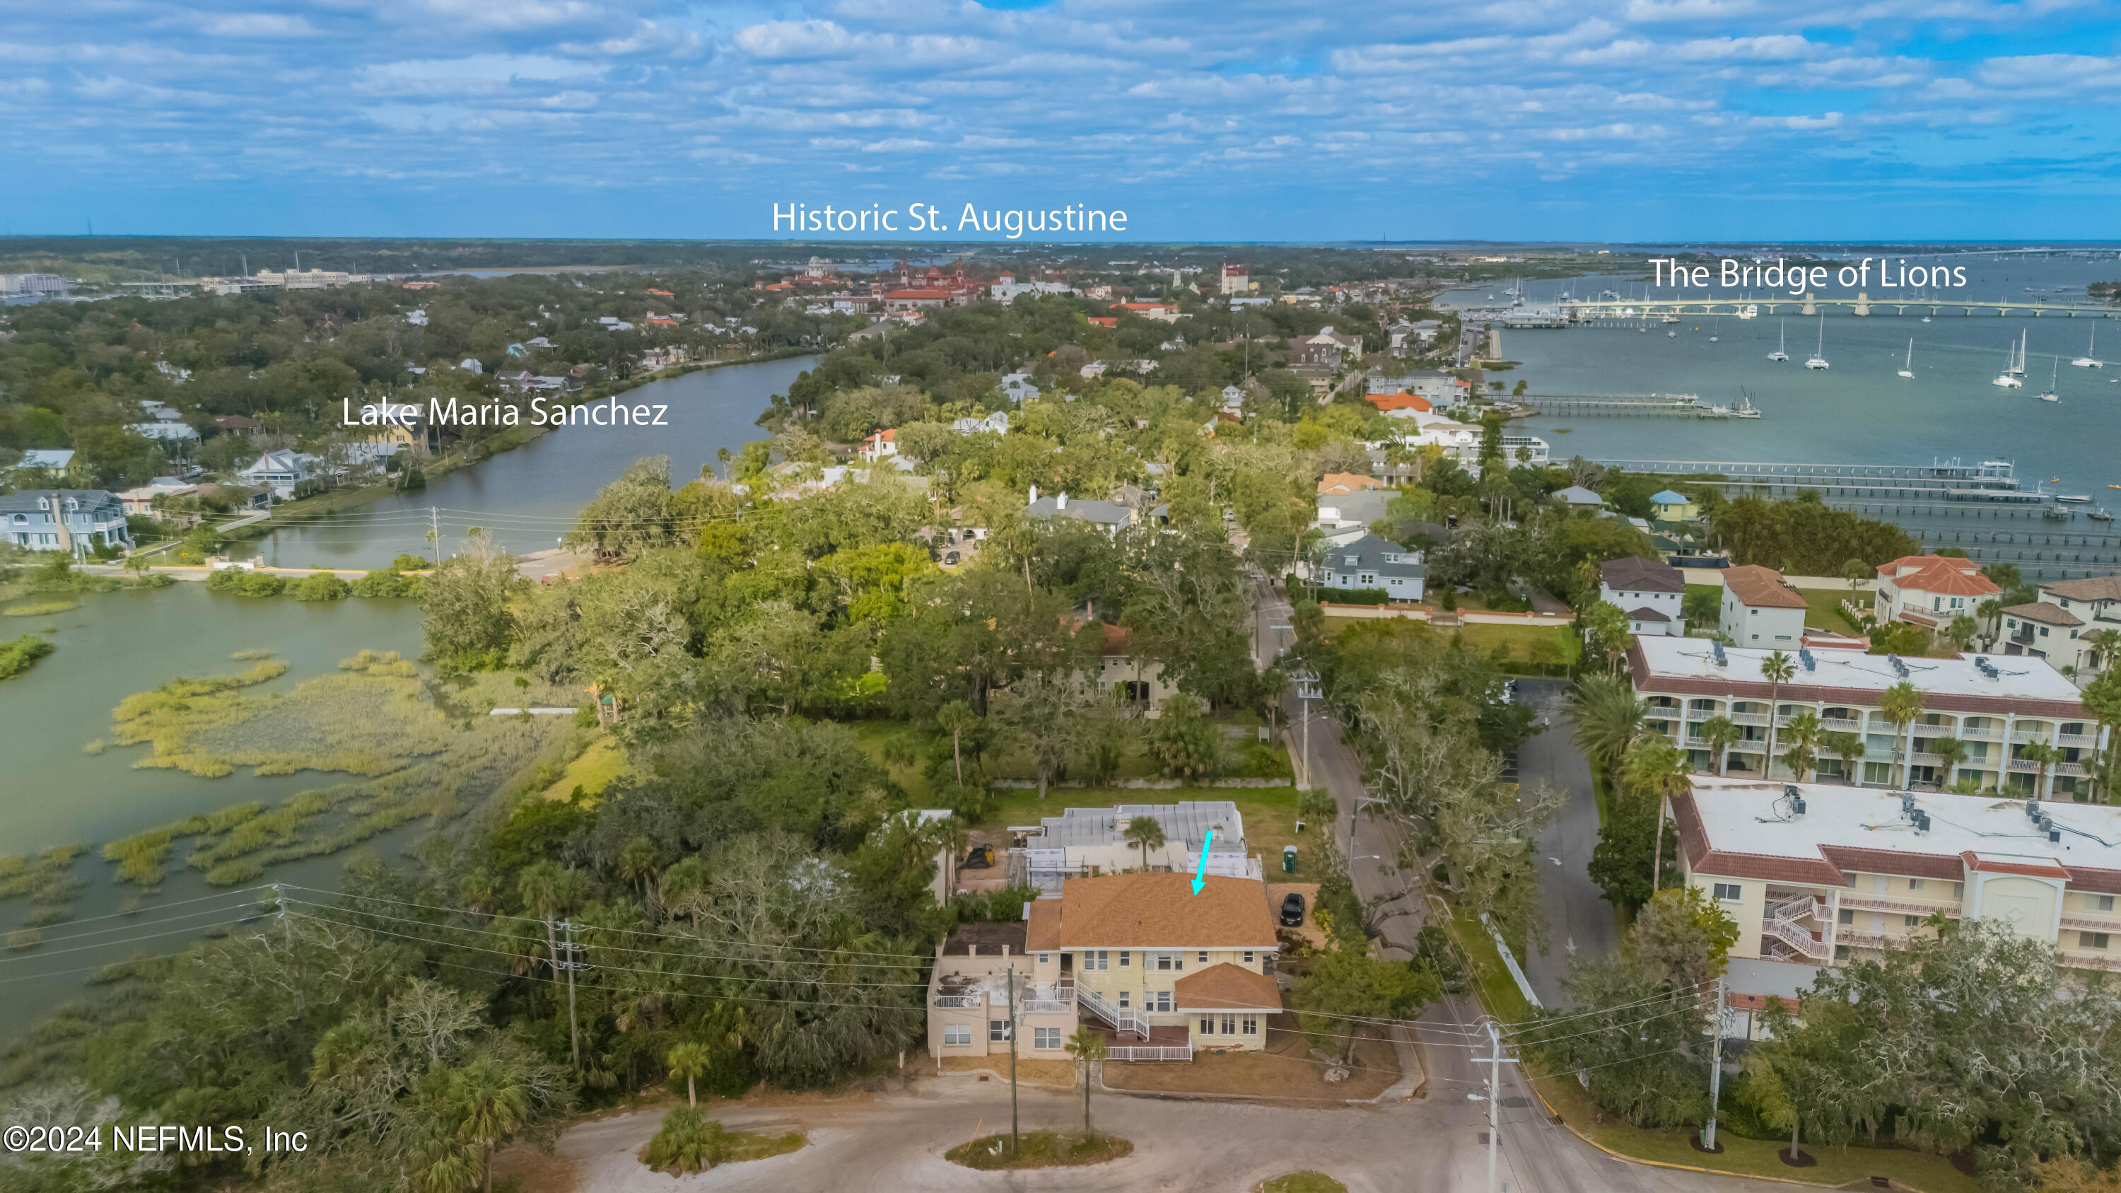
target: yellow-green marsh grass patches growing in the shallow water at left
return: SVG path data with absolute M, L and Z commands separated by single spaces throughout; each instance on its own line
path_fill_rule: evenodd
M 496 792 L 532 783 L 539 766 L 564 762 L 573 722 L 486 717 L 505 694 L 505 675 L 452 679 L 433 690 L 397 652 L 361 652 L 293 692 L 246 692 L 286 671 L 261 662 L 242 675 L 176 679 L 127 696 L 115 711 L 117 741 L 151 745 L 136 766 L 221 777 L 337 771 L 356 781 L 297 792 L 276 807 L 242 802 L 104 845 L 115 879 L 155 887 L 180 841 L 185 864 L 210 885 L 257 879 L 267 866 L 335 853 L 414 819 L 448 822 Z M 564 698 L 532 686 L 537 698 Z M 4 881 L 4 879 L 0 879 Z

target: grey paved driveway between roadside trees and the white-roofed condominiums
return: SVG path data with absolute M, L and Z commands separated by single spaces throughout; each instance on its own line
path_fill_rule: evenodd
M 1540 860 L 1540 904 L 1546 909 L 1546 953 L 1536 953 L 1525 964 L 1531 989 L 1546 1006 L 1567 1006 L 1561 993 L 1561 979 L 1567 976 L 1570 957 L 1606 957 L 1618 951 L 1620 934 L 1614 926 L 1612 904 L 1591 881 L 1591 851 L 1597 849 L 1597 794 L 1591 788 L 1591 762 L 1570 739 L 1570 726 L 1561 720 L 1563 679 L 1519 679 L 1519 703 L 1531 705 L 1548 728 L 1527 741 L 1517 751 L 1519 783 L 1550 783 L 1567 792 L 1567 802 L 1555 822 L 1540 834 L 1536 858 Z

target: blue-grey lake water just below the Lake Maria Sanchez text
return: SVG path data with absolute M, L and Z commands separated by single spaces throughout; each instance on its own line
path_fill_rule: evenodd
M 448 554 L 471 526 L 524 554 L 556 546 L 575 514 L 641 456 L 670 456 L 672 484 L 713 465 L 717 448 L 736 452 L 766 433 L 757 416 L 770 395 L 787 393 L 814 357 L 723 365 L 649 382 L 621 397 L 666 403 L 668 427 L 566 427 L 405 497 L 386 497 L 303 529 L 261 539 L 252 554 L 280 567 L 380 567 L 399 552 L 426 554 L 428 507 L 437 507 Z

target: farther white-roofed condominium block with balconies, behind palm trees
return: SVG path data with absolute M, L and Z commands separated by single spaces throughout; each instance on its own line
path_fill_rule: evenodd
M 2059 798 L 2079 792 L 2085 764 L 2102 745 L 2104 730 L 2085 713 L 2076 686 L 2036 658 L 1898 658 L 1799 647 L 1782 652 L 1792 675 L 1777 686 L 1760 671 L 1771 654 L 1777 652 L 1637 637 L 1627 662 L 1635 692 L 1650 707 L 1650 728 L 1686 749 L 1701 771 L 1720 762 L 1722 771 L 1754 779 L 1816 775 L 1866 788 L 1949 788 L 1975 779 L 1983 788 Z M 1898 684 L 1922 694 L 1922 713 L 1905 728 L 1883 713 L 1886 690 Z M 1822 747 L 1813 775 L 1790 775 L 1780 758 L 1786 741 L 1777 741 L 1769 766 L 1769 701 L 1782 728 L 1809 711 L 1824 732 L 1858 734 L 1862 754 L 1850 760 L 1852 771 Z M 1701 726 L 1712 717 L 1729 717 L 1743 732 L 1722 760 L 1703 743 Z M 1934 749 L 1939 739 L 1962 741 L 1966 760 L 1947 766 Z M 2062 756 L 2040 762 L 2026 756 L 2030 745 L 2057 747 Z

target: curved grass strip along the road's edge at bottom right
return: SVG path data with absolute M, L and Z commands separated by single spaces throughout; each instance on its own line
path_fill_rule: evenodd
M 1714 1168 L 1720 1172 L 1741 1172 L 1752 1176 L 1782 1176 L 1813 1185 L 1854 1187 L 1871 1176 L 1890 1176 L 1900 1185 L 1924 1193 L 1977 1193 L 1979 1182 L 1966 1176 L 1941 1155 L 1907 1148 L 1839 1148 L 1805 1144 L 1805 1153 L 1816 1157 L 1813 1168 L 1790 1168 L 1775 1155 L 1790 1146 L 1788 1140 L 1746 1140 L 1731 1131 L 1716 1131 L 1722 1144 L 1720 1155 L 1695 1151 L 1693 1129 L 1629 1127 L 1625 1123 L 1599 1123 L 1597 1106 L 1582 1085 L 1570 1078 L 1533 1078 L 1540 1097 L 1555 1108 L 1561 1119 L 1599 1146 L 1637 1159 L 1661 1163 L 1684 1163 L 1688 1168 Z

